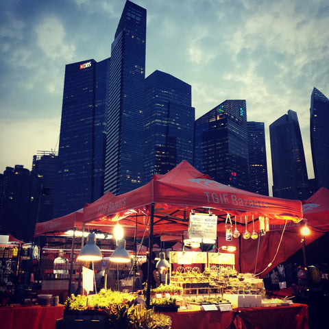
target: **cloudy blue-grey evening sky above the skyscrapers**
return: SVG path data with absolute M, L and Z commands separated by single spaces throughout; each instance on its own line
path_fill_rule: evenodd
M 315 86 L 329 96 L 328 1 L 134 2 L 147 9 L 147 75 L 158 69 L 191 84 L 196 118 L 245 99 L 268 145 L 269 125 L 294 110 L 313 178 L 310 94 Z M 38 150 L 58 149 L 65 64 L 110 57 L 124 4 L 0 0 L 0 173 L 31 169 Z

